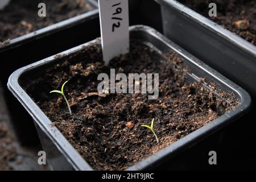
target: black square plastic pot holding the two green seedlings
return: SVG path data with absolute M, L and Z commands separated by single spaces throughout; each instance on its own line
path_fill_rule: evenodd
M 196 57 L 184 51 L 183 48 L 177 46 L 156 30 L 146 26 L 133 26 L 130 27 L 130 37 L 154 48 L 159 53 L 168 52 L 170 49 L 176 51 L 183 57 L 184 64 L 190 69 L 190 72 L 187 73 L 187 82 L 199 81 L 200 77 L 205 77 L 208 82 L 214 82 L 218 88 L 221 88 L 226 92 L 234 92 L 235 97 L 240 104 L 229 113 L 221 115 L 204 127 L 201 127 L 186 137 L 177 140 L 177 142 L 163 150 L 160 150 L 156 154 L 149 156 L 134 166 L 129 167 L 127 170 L 152 169 L 160 166 L 160 164 L 167 162 L 168 159 L 181 151 L 199 143 L 201 140 L 212 135 L 222 127 L 229 125 L 229 123 L 235 121 L 249 110 L 251 99 L 245 90 L 220 75 L 220 73 L 214 71 L 212 68 L 208 67 L 208 65 L 204 64 L 202 61 L 196 59 Z M 100 45 L 100 40 L 96 39 L 92 42 L 61 52 L 59 56 L 71 56 L 77 51 L 84 49 L 84 47 L 92 46 L 94 44 Z M 18 69 L 10 76 L 8 88 L 34 119 L 43 148 L 47 152 L 48 164 L 50 164 L 52 169 L 91 170 L 92 168 L 88 163 L 82 159 L 79 153 L 71 146 L 68 140 L 64 138 L 60 131 L 55 126 L 51 125 L 52 122 L 19 85 L 19 80 L 28 76 L 26 73 L 31 74 L 39 69 L 42 71 L 52 67 L 52 64 L 55 63 L 55 56 L 51 56 L 47 59 Z M 204 86 L 207 88 L 207 84 Z M 217 95 L 217 97 L 220 96 Z

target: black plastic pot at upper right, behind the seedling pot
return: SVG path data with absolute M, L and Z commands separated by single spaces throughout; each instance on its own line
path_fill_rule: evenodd
M 175 0 L 155 0 L 163 31 L 193 55 L 256 96 L 256 47 Z

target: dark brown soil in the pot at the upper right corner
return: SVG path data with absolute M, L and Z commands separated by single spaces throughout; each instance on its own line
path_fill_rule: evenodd
M 255 0 L 178 0 L 198 13 L 212 19 L 256 46 Z M 216 3 L 217 16 L 209 17 L 209 3 Z

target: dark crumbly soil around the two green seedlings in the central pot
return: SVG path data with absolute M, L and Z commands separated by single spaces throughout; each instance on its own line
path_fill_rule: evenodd
M 58 57 L 58 56 L 56 56 Z M 98 94 L 100 73 L 159 73 L 159 97 L 147 94 Z M 29 73 L 20 84 L 73 147 L 94 169 L 125 169 L 237 106 L 233 93 L 224 93 L 207 81 L 187 83 L 188 68 L 175 52 L 161 56 L 137 41 L 127 55 L 102 63 L 99 46 L 85 47 L 46 70 Z M 35 75 L 34 75 L 35 74 Z M 58 94 L 68 80 L 66 94 L 73 114 Z M 223 98 L 217 98 L 218 92 Z M 228 100 L 225 102 L 224 100 Z M 150 125 L 159 138 L 141 125 Z

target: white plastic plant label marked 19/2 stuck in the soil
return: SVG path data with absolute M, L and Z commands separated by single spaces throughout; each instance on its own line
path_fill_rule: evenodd
M 101 44 L 105 65 L 129 52 L 128 0 L 98 0 Z

